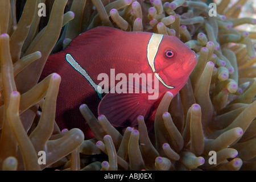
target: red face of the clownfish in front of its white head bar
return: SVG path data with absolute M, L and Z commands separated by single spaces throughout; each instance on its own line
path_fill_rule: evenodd
M 181 88 L 195 68 L 197 56 L 176 36 L 163 35 L 154 57 L 154 72 L 166 88 Z

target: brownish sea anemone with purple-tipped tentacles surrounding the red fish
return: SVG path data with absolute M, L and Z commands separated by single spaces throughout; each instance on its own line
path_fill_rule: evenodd
M 205 2 L 2 0 L 0 168 L 255 170 L 256 34 L 237 27 L 256 19 L 239 17 L 246 0 L 218 1 L 217 12 Z M 57 126 L 61 77 L 38 83 L 40 74 L 50 53 L 97 26 L 175 35 L 197 53 L 187 84 L 164 95 L 151 131 L 140 116 L 121 134 L 85 104 L 80 111 L 95 138 Z

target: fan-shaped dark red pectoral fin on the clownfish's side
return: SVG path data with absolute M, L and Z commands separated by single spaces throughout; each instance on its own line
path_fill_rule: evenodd
M 102 98 L 98 105 L 98 114 L 105 115 L 115 127 L 137 126 L 139 115 L 146 121 L 152 115 L 154 101 L 148 100 L 148 94 L 142 92 L 142 88 L 139 84 L 133 88 L 127 86 L 126 93 L 113 92 L 113 88 Z M 141 90 L 139 93 L 138 89 Z

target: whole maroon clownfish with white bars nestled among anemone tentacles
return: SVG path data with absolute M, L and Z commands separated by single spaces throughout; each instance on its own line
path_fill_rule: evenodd
M 81 129 L 88 139 L 94 135 L 80 113 L 80 105 L 88 105 L 96 117 L 106 115 L 117 127 L 137 126 L 139 115 L 154 121 L 163 94 L 169 91 L 175 96 L 196 61 L 195 52 L 175 36 L 96 27 L 50 55 L 40 80 L 51 73 L 61 76 L 56 122 L 60 129 Z M 143 76 L 148 79 L 143 80 Z M 126 87 L 129 84 L 139 85 L 139 90 L 146 88 L 146 93 L 135 93 L 135 87 Z

